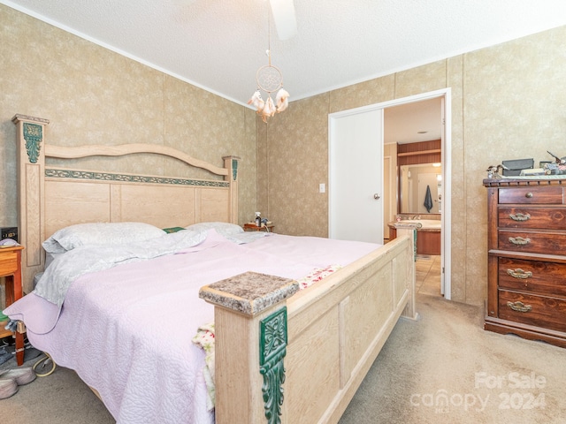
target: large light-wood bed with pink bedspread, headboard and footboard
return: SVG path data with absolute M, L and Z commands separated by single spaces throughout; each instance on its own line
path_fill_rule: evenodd
M 236 225 L 236 156 L 226 156 L 218 168 L 155 145 L 61 148 L 43 140 L 47 120 L 17 115 L 13 121 L 25 292 L 31 292 L 37 273 L 53 274 L 54 265 L 63 262 L 55 259 L 45 269 L 43 243 L 70 226 L 183 228 L 158 239 L 164 246 L 153 240 L 130 246 L 155 250 L 153 259 L 141 261 L 138 255 L 80 275 L 66 288 L 62 307 L 47 302 L 55 312 L 26 318 L 25 303 L 37 298 L 35 293 L 12 305 L 11 317 L 27 325 L 32 344 L 75 369 L 118 422 L 337 422 L 399 317 L 416 316 L 410 227 L 398 229 L 397 239 L 385 246 L 243 234 Z M 172 156 L 215 178 L 45 164 L 45 157 L 142 152 Z M 181 247 L 173 251 L 172 245 Z M 96 257 L 98 251 L 90 249 L 80 246 L 62 256 L 68 262 L 75 254 L 76 261 L 85 257 L 79 254 Z M 325 270 L 324 278 L 314 278 L 320 280 L 316 284 L 305 284 Z M 127 313 L 122 302 L 130 306 Z M 45 318 L 52 314 L 57 315 L 53 326 Z M 191 342 L 198 329 L 212 323 L 215 408 L 210 411 L 210 356 Z M 31 331 L 34 326 L 38 330 Z M 134 362 L 128 361 L 132 352 L 140 357 Z

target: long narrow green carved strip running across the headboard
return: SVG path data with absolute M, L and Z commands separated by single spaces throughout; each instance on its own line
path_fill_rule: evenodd
M 88 170 L 45 170 L 45 177 L 50 178 L 75 178 L 95 179 L 103 181 L 121 181 L 129 183 L 155 183 L 172 184 L 177 186 L 206 186 L 206 187 L 228 187 L 227 181 L 206 181 L 201 179 L 184 178 L 162 178 L 145 177 L 143 175 L 112 174 L 109 172 L 92 172 Z

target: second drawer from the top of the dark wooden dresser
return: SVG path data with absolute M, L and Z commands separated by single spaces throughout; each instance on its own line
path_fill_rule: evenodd
M 498 208 L 498 225 L 566 230 L 566 208 Z

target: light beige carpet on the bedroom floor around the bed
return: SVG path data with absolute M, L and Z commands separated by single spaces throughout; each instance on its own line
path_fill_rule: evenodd
M 340 424 L 566 422 L 566 350 L 484 331 L 482 308 L 438 296 L 419 294 L 417 311 L 419 321 L 397 323 Z M 0 400 L 0 422 L 114 420 L 73 371 L 57 367 Z

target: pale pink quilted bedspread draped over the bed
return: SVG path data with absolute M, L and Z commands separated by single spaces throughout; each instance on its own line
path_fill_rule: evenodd
M 279 235 L 236 245 L 215 231 L 208 238 L 218 244 L 80 276 L 57 326 L 44 335 L 28 330 L 29 341 L 76 370 L 119 423 L 212 423 L 204 352 L 191 341 L 199 325 L 213 321 L 213 307 L 198 298 L 200 287 L 249 270 L 298 279 L 378 247 Z M 26 314 L 41 316 L 52 307 L 34 294 L 24 299 L 4 312 L 25 322 Z

